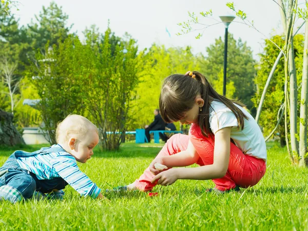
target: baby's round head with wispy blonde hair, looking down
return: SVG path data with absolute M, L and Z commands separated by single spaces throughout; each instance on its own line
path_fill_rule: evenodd
M 56 142 L 78 162 L 86 163 L 99 143 L 98 128 L 81 115 L 68 115 L 56 128 Z

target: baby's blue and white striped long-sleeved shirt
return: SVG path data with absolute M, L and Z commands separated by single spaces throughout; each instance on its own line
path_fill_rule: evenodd
M 52 145 L 52 148 L 62 148 Z M 17 157 L 21 168 L 33 172 L 38 180 L 62 178 L 82 196 L 97 198 L 101 189 L 77 166 L 75 158 L 66 151 L 41 153 L 28 157 Z

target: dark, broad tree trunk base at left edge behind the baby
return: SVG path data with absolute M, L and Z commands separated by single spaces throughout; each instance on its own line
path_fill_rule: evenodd
M 21 134 L 14 127 L 13 115 L 0 109 L 0 145 L 25 144 Z

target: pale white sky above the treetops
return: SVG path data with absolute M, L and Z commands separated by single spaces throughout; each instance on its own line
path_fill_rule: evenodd
M 18 11 L 14 11 L 20 17 L 20 24 L 27 25 L 34 20 L 34 15 L 42 11 L 42 7 L 49 6 L 49 0 L 20 0 Z M 69 16 L 68 25 L 73 24 L 71 32 L 84 38 L 82 31 L 86 27 L 95 24 L 104 32 L 110 21 L 110 28 L 117 36 L 123 36 L 128 32 L 138 41 L 139 49 L 149 48 L 153 43 L 166 47 L 191 46 L 193 53 L 206 55 L 206 47 L 215 43 L 215 39 L 222 36 L 224 39 L 224 25 L 220 22 L 221 15 L 235 15 L 224 0 L 55 0 L 58 6 Z M 299 1 L 300 7 L 304 0 Z M 259 60 L 258 53 L 262 52 L 264 39 L 275 34 L 282 33 L 281 16 L 279 6 L 273 0 L 234 0 L 236 9 L 244 11 L 248 21 L 254 21 L 254 26 L 248 27 L 240 18 L 229 25 L 228 32 L 233 33 L 236 40 L 241 38 L 252 48 L 253 55 Z M 202 18 L 199 14 L 212 10 L 211 18 Z M 199 16 L 200 23 L 213 25 L 207 27 L 203 36 L 197 40 L 195 37 L 200 31 L 190 32 L 184 35 L 176 35 L 181 31 L 178 23 L 189 20 L 189 12 Z M 298 20 L 296 26 L 303 21 Z M 168 32 L 167 32 L 168 30 Z M 202 30 L 201 30 L 202 31 Z M 304 33 L 304 26 L 299 33 Z

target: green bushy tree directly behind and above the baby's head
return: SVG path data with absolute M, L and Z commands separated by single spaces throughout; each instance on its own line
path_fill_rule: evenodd
M 68 114 L 83 114 L 85 111 L 85 89 L 89 75 L 85 73 L 85 50 L 76 36 L 69 36 L 59 46 L 47 53 L 36 53 L 35 62 L 29 69 L 28 76 L 33 79 L 40 103 L 37 109 L 42 115 L 49 142 L 55 144 L 55 128 L 59 121 Z

